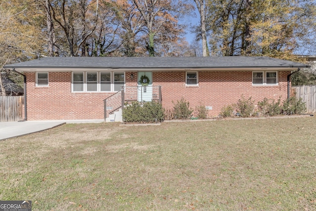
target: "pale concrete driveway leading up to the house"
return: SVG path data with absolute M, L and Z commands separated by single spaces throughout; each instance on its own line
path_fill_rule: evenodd
M 66 123 L 102 123 L 104 120 L 70 120 L 70 121 L 21 121 L 21 122 L 0 122 L 0 140 L 22 136 Z

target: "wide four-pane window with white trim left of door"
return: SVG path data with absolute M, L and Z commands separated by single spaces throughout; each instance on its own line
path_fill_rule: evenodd
M 73 92 L 114 92 L 125 84 L 124 72 L 73 72 Z

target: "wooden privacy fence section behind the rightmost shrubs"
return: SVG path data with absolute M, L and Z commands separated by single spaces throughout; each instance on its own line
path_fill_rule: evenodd
M 316 113 L 316 85 L 292 86 L 291 96 L 303 99 L 307 113 Z

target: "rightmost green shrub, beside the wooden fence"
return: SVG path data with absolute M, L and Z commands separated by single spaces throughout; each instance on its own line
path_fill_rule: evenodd
M 306 111 L 306 103 L 303 99 L 290 97 L 283 102 L 282 113 L 285 115 L 302 114 Z

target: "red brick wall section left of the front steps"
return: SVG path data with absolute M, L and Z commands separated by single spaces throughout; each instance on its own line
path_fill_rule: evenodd
M 36 87 L 35 73 L 27 76 L 28 120 L 103 119 L 103 100 L 114 93 L 72 93 L 70 72 L 49 72 L 49 86 Z

